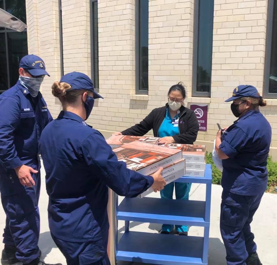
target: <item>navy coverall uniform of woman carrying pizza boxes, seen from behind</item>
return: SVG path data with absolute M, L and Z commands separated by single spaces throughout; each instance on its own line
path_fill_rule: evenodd
M 104 137 L 69 111 L 46 126 L 40 143 L 53 240 L 68 265 L 110 264 L 108 187 L 135 197 L 153 177 L 126 169 Z

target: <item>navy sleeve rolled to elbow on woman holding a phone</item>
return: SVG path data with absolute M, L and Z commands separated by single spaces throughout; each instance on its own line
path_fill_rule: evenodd
M 247 143 L 248 137 L 246 133 L 239 127 L 234 127 L 226 135 L 223 135 L 223 141 L 219 145 L 220 150 L 234 158 L 239 150 Z

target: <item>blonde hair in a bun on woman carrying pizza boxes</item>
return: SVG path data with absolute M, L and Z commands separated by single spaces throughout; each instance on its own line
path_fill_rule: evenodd
M 67 105 L 67 104 L 75 103 L 77 101 L 78 96 L 87 91 L 85 89 L 78 89 L 78 90 L 70 90 L 70 89 L 72 89 L 70 84 L 65 82 L 60 83 L 56 81 L 52 85 L 52 94 L 53 96 L 57 97 L 61 101 L 62 105 Z

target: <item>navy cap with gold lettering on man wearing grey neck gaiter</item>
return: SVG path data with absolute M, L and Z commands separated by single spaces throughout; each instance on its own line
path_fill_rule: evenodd
M 19 68 L 27 70 L 33 76 L 48 75 L 45 71 L 45 63 L 42 58 L 29 54 L 21 58 Z

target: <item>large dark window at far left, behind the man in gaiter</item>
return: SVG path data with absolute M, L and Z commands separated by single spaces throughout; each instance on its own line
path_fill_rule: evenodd
M 25 1 L 0 0 L 0 8 L 26 24 Z M 0 93 L 16 84 L 20 59 L 27 54 L 27 30 L 16 32 L 0 28 Z

